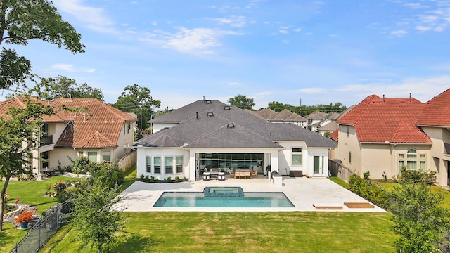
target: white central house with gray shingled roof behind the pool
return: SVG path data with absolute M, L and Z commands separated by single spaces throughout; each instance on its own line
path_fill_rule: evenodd
M 134 144 L 137 176 L 199 179 L 205 167 L 328 176 L 333 141 L 294 124 L 274 124 L 218 100 L 198 100 L 151 120 Z

